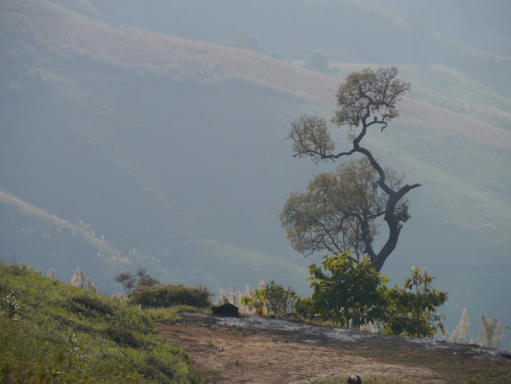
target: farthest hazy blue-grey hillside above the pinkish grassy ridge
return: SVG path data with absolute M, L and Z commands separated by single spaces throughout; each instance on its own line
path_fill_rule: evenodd
M 440 63 L 511 95 L 511 9 L 506 0 L 91 3 L 116 27 L 238 46 L 245 42 L 253 47 L 255 40 L 260 52 L 291 61 L 307 60 L 311 51 L 322 50 L 330 60 L 348 63 Z M 240 41 L 240 31 L 252 39 Z

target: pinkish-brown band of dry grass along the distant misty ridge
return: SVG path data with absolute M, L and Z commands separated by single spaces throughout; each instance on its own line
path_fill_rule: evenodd
M 129 71 L 168 76 L 177 81 L 214 82 L 224 78 L 269 87 L 293 97 L 335 107 L 342 78 L 319 73 L 247 50 L 169 36 L 103 22 L 65 12 L 57 5 L 39 5 L 32 28 L 48 36 L 40 40 L 64 56 L 95 60 Z M 74 17 L 75 16 L 75 17 Z M 39 38 L 40 39 L 40 38 Z M 363 65 L 369 66 L 369 65 Z M 346 64 L 346 67 L 362 67 Z M 350 70 L 351 71 L 351 70 Z M 339 73 L 342 77 L 347 72 Z M 405 98 L 396 122 L 409 128 L 452 131 L 470 141 L 509 150 L 511 133 L 477 118 L 457 114 L 427 101 Z M 511 124 L 511 116 L 504 116 Z

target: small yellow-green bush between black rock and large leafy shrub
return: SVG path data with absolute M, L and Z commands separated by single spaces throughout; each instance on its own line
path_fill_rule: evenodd
M 260 287 L 253 292 L 253 297 L 244 296 L 241 304 L 255 309 L 258 316 L 277 316 L 292 313 L 297 300 L 296 292 L 291 288 L 284 288 L 271 280 L 265 287 Z

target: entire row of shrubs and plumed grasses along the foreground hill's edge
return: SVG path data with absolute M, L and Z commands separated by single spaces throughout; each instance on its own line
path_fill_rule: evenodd
M 418 266 L 411 269 L 402 287 L 394 285 L 394 288 L 385 285 L 389 279 L 371 268 L 368 259 L 356 260 L 350 252 L 324 255 L 321 265 L 310 265 L 309 273 L 313 289 L 310 297 L 298 296 L 291 287 L 285 288 L 274 281 L 266 284 L 261 280 L 255 290 L 247 285 L 245 292 L 237 293 L 233 285 L 229 296 L 220 290 L 216 305 L 232 304 L 245 316 L 289 318 L 294 315 L 306 321 L 384 334 L 432 338 L 439 332 L 447 338 L 442 323 L 445 317 L 437 312 L 437 307 L 447 302 L 447 292 L 434 289 L 434 277 L 422 273 Z M 114 297 L 128 298 L 131 304 L 141 308 L 176 305 L 208 308 L 215 296 L 202 286 L 161 285 L 145 268 L 137 269 L 135 274 L 122 273 L 115 280 L 123 284 L 126 297 L 117 293 Z M 96 284 L 85 279 L 80 268 L 71 283 L 96 292 Z M 498 347 L 503 327 L 496 316 L 487 319 L 481 313 L 482 329 L 477 338 L 470 333 L 470 326 L 464 309 L 449 340 Z

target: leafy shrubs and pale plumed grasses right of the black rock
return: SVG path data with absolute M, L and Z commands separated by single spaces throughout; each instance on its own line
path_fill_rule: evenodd
M 318 323 L 331 323 L 369 332 L 432 338 L 437 334 L 447 339 L 448 331 L 442 320 L 444 315 L 437 307 L 447 301 L 447 293 L 432 287 L 429 273 L 421 274 L 414 266 L 403 287 L 387 288 L 388 278 L 376 273 L 366 259 L 355 262 L 350 253 L 325 255 L 322 268 L 309 267 L 313 293 L 301 298 L 289 288 L 274 281 L 263 280 L 252 291 L 249 286 L 236 297 L 234 286 L 228 297 L 221 291 L 218 304 L 241 305 L 240 313 L 266 317 L 301 318 Z M 496 349 L 503 337 L 502 324 L 497 320 L 481 317 L 481 330 L 477 337 L 470 332 L 471 323 L 464 308 L 461 319 L 448 340 L 457 344 L 472 344 Z M 506 327 L 511 329 L 509 327 Z

